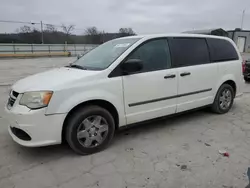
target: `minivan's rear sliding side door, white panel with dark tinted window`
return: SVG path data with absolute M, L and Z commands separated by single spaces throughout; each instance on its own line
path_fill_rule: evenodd
M 218 65 L 210 63 L 206 39 L 178 37 L 169 42 L 178 75 L 177 112 L 211 104 Z

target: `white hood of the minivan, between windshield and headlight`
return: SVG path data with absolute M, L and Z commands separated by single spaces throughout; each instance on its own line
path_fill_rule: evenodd
M 21 79 L 12 86 L 12 89 L 18 93 L 42 90 L 53 91 L 66 83 L 87 78 L 98 73 L 99 71 L 61 67 Z

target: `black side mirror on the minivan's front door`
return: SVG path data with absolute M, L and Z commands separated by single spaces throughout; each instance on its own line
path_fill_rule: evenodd
M 139 72 L 142 68 L 143 62 L 140 59 L 129 59 L 121 65 L 121 69 L 125 74 Z

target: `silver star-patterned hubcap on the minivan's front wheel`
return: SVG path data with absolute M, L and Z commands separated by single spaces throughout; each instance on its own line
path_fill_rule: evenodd
M 102 116 L 85 118 L 77 129 L 77 139 L 86 148 L 100 145 L 108 134 L 108 123 Z

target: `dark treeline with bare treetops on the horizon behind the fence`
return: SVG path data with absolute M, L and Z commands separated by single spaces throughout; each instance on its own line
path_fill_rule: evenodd
M 44 24 L 45 29 L 43 32 L 44 42 L 52 44 L 62 43 L 89 43 L 101 44 L 106 41 L 112 40 L 117 37 L 136 35 L 132 28 L 120 28 L 117 33 L 108 33 L 99 30 L 97 27 L 86 28 L 82 35 L 72 35 L 75 29 L 74 25 L 61 25 L 62 31 L 52 25 Z M 4 41 L 19 41 L 20 43 L 41 43 L 41 31 L 36 28 L 24 25 L 16 30 L 16 34 L 5 34 Z M 18 35 L 18 37 L 16 37 Z M 7 39 L 6 39 L 7 38 Z M 6 39 L 6 40 L 5 40 Z M 3 41 L 3 40 L 2 40 Z M 0 40 L 1 42 L 1 40 Z

